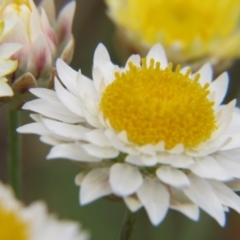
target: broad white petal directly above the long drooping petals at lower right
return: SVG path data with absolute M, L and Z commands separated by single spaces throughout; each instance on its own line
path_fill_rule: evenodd
M 232 176 L 229 175 L 211 156 L 195 159 L 195 164 L 193 164 L 190 169 L 196 175 L 203 178 L 221 181 L 232 179 Z

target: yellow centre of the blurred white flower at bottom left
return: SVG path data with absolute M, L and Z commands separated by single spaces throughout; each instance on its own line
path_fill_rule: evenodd
M 28 223 L 24 222 L 16 210 L 7 209 L 0 202 L 0 239 L 28 240 Z

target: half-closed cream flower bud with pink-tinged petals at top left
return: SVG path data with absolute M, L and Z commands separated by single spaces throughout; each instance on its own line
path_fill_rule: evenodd
M 5 21 L 0 43 L 23 45 L 13 56 L 19 62 L 12 81 L 15 91 L 22 93 L 37 84 L 47 86 L 56 58 L 71 61 L 75 5 L 75 1 L 66 4 L 56 18 L 53 0 L 43 1 L 38 8 L 32 0 L 0 1 L 0 18 Z

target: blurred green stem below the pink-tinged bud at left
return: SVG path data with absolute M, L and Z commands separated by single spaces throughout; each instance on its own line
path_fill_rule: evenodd
M 10 104 L 9 104 L 10 105 Z M 20 111 L 8 109 L 8 180 L 16 196 L 21 197 L 21 136 L 16 132 L 20 126 Z

